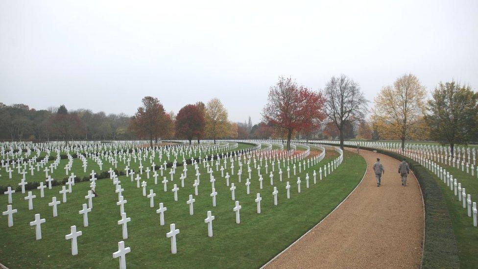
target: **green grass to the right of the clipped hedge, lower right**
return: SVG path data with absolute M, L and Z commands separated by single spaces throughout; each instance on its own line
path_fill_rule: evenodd
M 453 166 L 448 166 L 443 163 L 440 165 L 457 178 L 462 187 L 466 189 L 466 193 L 471 195 L 472 201 L 477 201 L 478 197 L 478 178 L 475 175 L 456 169 Z M 438 179 L 438 185 L 442 190 L 442 194 L 446 199 L 448 211 L 450 212 L 450 219 L 452 220 L 453 230 L 458 247 L 458 256 L 460 259 L 460 268 L 476 268 L 478 265 L 478 255 L 476 250 L 478 248 L 478 229 L 473 226 L 473 217 L 468 217 L 467 209 L 463 208 L 461 201 L 458 201 L 458 196 L 454 196 L 454 191 L 442 180 Z M 473 216 L 473 213 L 472 213 Z M 446 246 L 444 246 L 446 247 Z

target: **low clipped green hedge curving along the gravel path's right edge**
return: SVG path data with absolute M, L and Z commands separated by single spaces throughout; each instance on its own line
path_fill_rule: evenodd
M 310 144 L 324 144 L 313 143 Z M 326 145 L 337 146 L 331 143 Z M 344 147 L 357 148 L 344 145 Z M 395 152 L 378 148 L 360 147 L 390 156 L 397 160 L 406 159 L 410 169 L 415 174 L 422 191 L 425 204 L 425 242 L 423 245 L 422 268 L 459 268 L 460 260 L 454 236 L 452 221 L 444 201 L 443 194 L 433 174 L 422 167 L 420 163 Z

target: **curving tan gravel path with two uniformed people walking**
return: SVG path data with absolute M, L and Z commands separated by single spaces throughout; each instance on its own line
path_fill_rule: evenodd
M 415 176 L 403 187 L 399 161 L 365 150 L 360 155 L 368 169 L 357 189 L 267 268 L 420 267 L 423 202 Z M 381 187 L 372 170 L 376 158 L 385 169 Z

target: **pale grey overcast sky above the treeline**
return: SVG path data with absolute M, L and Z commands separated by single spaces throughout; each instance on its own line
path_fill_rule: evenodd
M 0 0 L 0 102 L 132 115 L 220 98 L 258 122 L 268 88 L 333 75 L 373 100 L 416 74 L 478 87 L 478 1 Z

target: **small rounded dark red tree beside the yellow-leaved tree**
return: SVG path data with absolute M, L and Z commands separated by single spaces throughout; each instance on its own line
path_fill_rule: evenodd
M 196 105 L 185 105 L 176 116 L 176 135 L 189 140 L 189 145 L 204 133 L 204 126 L 204 117 Z

